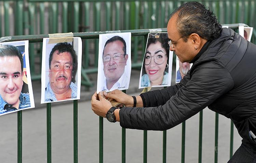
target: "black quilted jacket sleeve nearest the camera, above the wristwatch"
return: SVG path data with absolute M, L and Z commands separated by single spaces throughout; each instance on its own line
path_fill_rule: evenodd
M 204 109 L 233 87 L 230 73 L 218 61 L 197 66 L 190 80 L 181 85 L 169 100 L 163 97 L 157 107 L 125 107 L 120 110 L 120 125 L 124 128 L 167 130 Z M 173 88 L 174 92 L 176 88 Z M 158 97 L 155 97 L 155 101 Z M 151 100 L 151 99 L 150 99 Z M 157 103 L 157 102 L 156 102 Z

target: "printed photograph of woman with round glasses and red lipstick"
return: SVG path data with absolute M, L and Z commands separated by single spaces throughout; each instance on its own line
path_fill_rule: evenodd
M 148 33 L 139 88 L 171 85 L 172 57 L 167 33 Z

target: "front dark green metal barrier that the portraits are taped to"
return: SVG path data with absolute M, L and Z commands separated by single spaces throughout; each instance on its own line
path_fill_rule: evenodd
M 247 26 L 246 24 L 225 24 L 228 25 L 231 29 L 237 29 L 239 25 Z M 144 29 L 144 30 L 123 30 L 120 32 L 131 32 L 132 38 L 134 37 L 143 37 L 143 40 L 147 39 L 147 34 L 149 32 L 167 32 L 166 28 L 162 29 Z M 112 33 L 116 31 L 105 31 L 105 32 L 84 32 L 84 33 L 73 33 L 74 37 L 81 37 L 83 40 L 91 40 L 99 38 L 99 34 Z M 30 43 L 42 42 L 43 38 L 48 37 L 48 35 L 22 35 L 22 36 L 13 36 L 8 41 L 18 41 L 18 40 L 29 40 Z M 31 47 L 29 47 L 31 48 Z M 145 42 L 143 43 L 143 47 L 141 47 L 142 53 L 144 53 Z M 31 54 L 30 54 L 31 55 Z M 33 54 L 32 54 L 33 55 Z M 132 54 L 134 55 L 134 54 Z M 175 58 L 175 57 L 174 57 Z M 141 64 L 141 63 L 139 63 Z M 175 64 L 175 62 L 173 62 Z M 132 63 L 132 66 L 138 65 L 138 63 Z M 141 65 L 140 65 L 141 67 Z M 125 91 L 124 91 L 125 92 Z M 51 153 L 51 103 L 48 103 L 46 112 L 46 121 L 47 121 L 47 163 L 51 163 L 52 153 Z M 17 155 L 18 155 L 18 163 L 22 163 L 22 111 L 18 111 L 18 127 L 17 127 Z M 203 119 L 203 111 L 200 111 L 199 115 L 199 150 L 198 150 L 198 162 L 202 162 L 202 119 Z M 73 144 L 74 144 L 74 163 L 78 162 L 78 139 L 77 139 L 77 100 L 73 101 Z M 147 131 L 143 133 L 143 162 L 147 162 Z M 162 145 L 162 162 L 166 163 L 166 142 L 167 142 L 167 132 L 163 131 L 163 145 Z M 122 163 L 126 162 L 126 129 L 122 128 Z M 215 114 L 215 148 L 214 148 L 214 162 L 218 162 L 218 114 Z M 233 123 L 231 122 L 230 129 L 230 157 L 233 155 Z M 103 118 L 99 117 L 99 162 L 103 162 Z M 182 156 L 181 162 L 185 162 L 185 122 L 182 123 Z

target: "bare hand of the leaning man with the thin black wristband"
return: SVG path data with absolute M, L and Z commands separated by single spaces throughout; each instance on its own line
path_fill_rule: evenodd
M 129 96 L 127 94 L 125 94 L 124 92 L 116 89 L 113 90 L 109 93 L 103 92 L 105 98 L 109 98 L 109 101 L 117 101 L 119 103 L 125 104 L 125 106 L 127 107 L 132 107 L 133 106 L 133 98 L 132 96 Z

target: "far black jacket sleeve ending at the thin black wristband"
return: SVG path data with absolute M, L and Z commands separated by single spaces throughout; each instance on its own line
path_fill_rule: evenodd
M 143 107 L 156 107 L 165 104 L 176 92 L 190 80 L 190 71 L 180 83 L 163 89 L 141 93 Z

